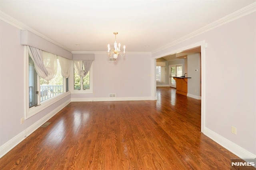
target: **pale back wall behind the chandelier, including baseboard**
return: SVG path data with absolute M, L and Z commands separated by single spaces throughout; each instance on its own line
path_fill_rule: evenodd
M 93 61 L 93 94 L 72 94 L 72 101 L 151 99 L 151 54 L 126 54 L 108 62 L 106 54 L 95 54 Z M 71 78 L 72 79 L 72 78 Z

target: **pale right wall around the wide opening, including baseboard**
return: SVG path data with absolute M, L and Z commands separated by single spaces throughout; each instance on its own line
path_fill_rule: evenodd
M 205 41 L 202 74 L 204 133 L 238 156 L 256 157 L 256 12 L 241 16 L 152 58 Z M 231 126 L 237 134 L 231 133 Z

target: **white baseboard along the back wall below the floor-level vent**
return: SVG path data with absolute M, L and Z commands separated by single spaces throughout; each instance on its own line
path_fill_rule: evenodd
M 106 97 L 106 98 L 71 98 L 72 102 L 107 102 L 107 101 L 137 101 L 137 100 L 152 100 L 148 97 Z

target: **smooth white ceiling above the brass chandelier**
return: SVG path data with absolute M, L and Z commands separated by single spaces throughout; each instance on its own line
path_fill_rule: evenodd
M 0 11 L 69 51 L 106 52 L 118 32 L 127 52 L 154 52 L 253 2 L 0 0 Z

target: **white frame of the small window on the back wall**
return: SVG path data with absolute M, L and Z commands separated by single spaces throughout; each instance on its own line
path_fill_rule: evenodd
M 71 91 L 71 93 L 73 94 L 73 93 L 93 93 L 93 90 L 92 90 L 92 67 L 93 67 L 93 63 L 92 63 L 92 65 L 91 65 L 91 67 L 90 67 L 90 71 L 89 71 L 89 73 L 90 73 L 90 89 L 86 89 L 86 90 L 75 90 L 74 89 L 74 62 L 72 62 L 72 66 L 71 66 L 71 69 L 70 69 L 70 79 L 72 79 L 72 81 L 70 81 L 70 91 Z M 81 77 L 81 76 L 80 76 Z M 72 83 L 71 83 L 72 82 Z

